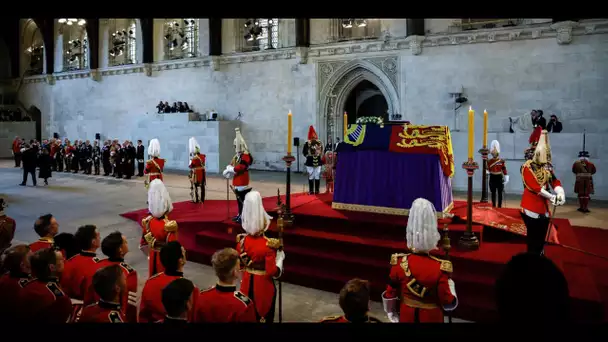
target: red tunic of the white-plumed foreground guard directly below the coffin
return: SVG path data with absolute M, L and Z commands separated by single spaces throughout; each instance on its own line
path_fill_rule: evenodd
M 448 280 L 452 263 L 430 254 L 393 254 L 386 298 L 400 298 L 401 323 L 443 323 L 443 306 L 456 297 Z

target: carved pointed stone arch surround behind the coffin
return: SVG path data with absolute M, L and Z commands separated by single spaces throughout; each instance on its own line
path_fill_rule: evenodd
M 361 81 L 367 80 L 374 84 L 388 104 L 389 114 L 401 113 L 398 90 L 398 59 L 396 57 L 381 57 L 371 59 L 356 59 L 349 62 L 334 61 L 319 63 L 318 86 L 320 87 L 318 130 L 323 138 L 327 138 L 332 126 L 331 115 L 337 114 L 335 124 L 342 127 L 344 106 L 351 91 Z

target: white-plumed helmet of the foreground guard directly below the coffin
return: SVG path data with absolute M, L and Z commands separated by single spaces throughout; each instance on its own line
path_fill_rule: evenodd
M 415 252 L 437 248 L 441 236 L 437 228 L 437 212 L 433 203 L 418 198 L 412 203 L 406 228 L 407 247 Z

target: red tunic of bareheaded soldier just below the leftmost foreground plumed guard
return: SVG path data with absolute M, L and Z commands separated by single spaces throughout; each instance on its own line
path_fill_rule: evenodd
M 167 315 L 162 301 L 162 291 L 165 286 L 178 278 L 183 278 L 182 272 L 161 272 L 153 275 L 146 281 L 141 292 L 139 303 L 139 323 L 154 323 L 162 320 Z M 198 288 L 194 288 L 194 301 L 196 303 Z M 193 305 L 193 308 L 195 306 Z M 190 321 L 193 320 L 194 309 L 190 314 Z

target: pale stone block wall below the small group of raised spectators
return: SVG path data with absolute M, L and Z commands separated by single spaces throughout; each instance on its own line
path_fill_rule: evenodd
M 207 156 L 207 172 L 219 173 L 234 156 L 234 129 L 239 121 L 189 121 L 188 113 L 152 114 L 139 122 L 131 132 L 132 140 L 149 137 L 143 141 L 146 151 L 151 139 L 160 141 L 161 158 L 166 159 L 166 170 L 188 170 L 190 153 L 188 140 L 194 137 Z M 154 136 L 150 136 L 155 132 Z

